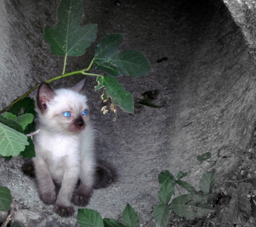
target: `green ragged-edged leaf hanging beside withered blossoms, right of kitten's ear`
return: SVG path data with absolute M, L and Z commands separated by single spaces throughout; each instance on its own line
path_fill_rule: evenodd
M 132 95 L 126 91 L 121 83 L 112 76 L 98 76 L 96 81 L 98 86 L 95 90 L 105 87 L 105 94 L 111 97 L 115 106 L 119 106 L 127 113 L 133 113 L 133 98 Z

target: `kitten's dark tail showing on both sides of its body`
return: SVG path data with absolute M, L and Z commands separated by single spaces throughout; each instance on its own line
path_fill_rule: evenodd
M 22 165 L 21 170 L 28 177 L 36 177 L 34 163 L 31 159 Z M 107 188 L 110 184 L 116 182 L 117 179 L 117 171 L 110 163 L 103 160 L 97 161 L 94 189 Z

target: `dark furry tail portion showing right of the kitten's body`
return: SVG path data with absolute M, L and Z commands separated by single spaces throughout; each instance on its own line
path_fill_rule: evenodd
M 117 180 L 118 174 L 116 169 L 110 163 L 98 160 L 94 189 L 107 188 L 112 183 L 117 182 Z

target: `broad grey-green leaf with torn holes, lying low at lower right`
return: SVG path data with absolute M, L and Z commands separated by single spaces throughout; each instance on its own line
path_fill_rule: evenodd
M 204 203 L 205 199 L 199 195 L 185 194 L 172 200 L 170 208 L 181 217 L 187 219 L 202 218 L 214 211 L 209 205 Z

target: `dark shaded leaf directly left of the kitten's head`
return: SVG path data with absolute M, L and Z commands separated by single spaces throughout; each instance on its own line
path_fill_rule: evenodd
M 35 109 L 35 102 L 32 98 L 30 97 L 24 97 L 17 103 L 15 103 L 9 110 L 8 112 L 20 116 L 22 114 L 28 114 L 31 113 L 34 115 L 34 118 L 36 118 L 37 113 L 34 110 Z M 24 130 L 24 134 L 31 133 L 32 131 L 36 130 L 36 124 L 34 121 L 31 124 L 28 124 L 26 129 Z

